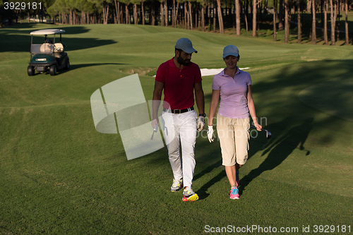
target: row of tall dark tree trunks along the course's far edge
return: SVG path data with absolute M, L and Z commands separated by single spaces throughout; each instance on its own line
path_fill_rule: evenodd
M 253 37 L 257 35 L 263 16 L 273 14 L 274 40 L 277 40 L 278 30 L 285 30 L 285 43 L 289 42 L 290 25 L 296 23 L 299 43 L 304 29 L 309 29 L 310 40 L 316 44 L 318 27 L 325 44 L 329 44 L 330 39 L 332 45 L 340 35 L 342 12 L 345 13 L 345 41 L 349 44 L 347 13 L 352 8 L 352 0 L 40 0 L 41 9 L 4 9 L 8 6 L 6 2 L 11 1 L 0 0 L 3 22 L 6 18 L 20 23 L 25 20 L 30 22 L 30 18 L 38 16 L 40 20 L 49 17 L 54 23 L 68 25 L 148 24 L 202 31 L 207 28 L 221 34 L 225 33 L 226 26 L 233 28 L 237 35 L 251 28 Z M 25 2 L 32 4 L 34 0 Z M 311 13 L 310 25 L 303 25 L 304 12 Z M 297 20 L 291 22 L 291 15 L 296 13 Z M 321 25 L 316 23 L 318 14 L 321 15 Z

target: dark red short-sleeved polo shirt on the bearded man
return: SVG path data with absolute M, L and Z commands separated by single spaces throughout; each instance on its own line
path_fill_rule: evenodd
M 189 109 L 194 104 L 193 85 L 202 81 L 201 71 L 193 62 L 189 62 L 188 66 L 180 70 L 175 66 L 173 59 L 174 57 L 161 64 L 155 76 L 155 80 L 164 83 L 163 107 Z

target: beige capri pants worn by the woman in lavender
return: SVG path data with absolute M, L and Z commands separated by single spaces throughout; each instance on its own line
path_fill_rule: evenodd
M 250 121 L 231 119 L 217 114 L 217 135 L 220 138 L 222 164 L 227 167 L 245 164 L 248 159 Z

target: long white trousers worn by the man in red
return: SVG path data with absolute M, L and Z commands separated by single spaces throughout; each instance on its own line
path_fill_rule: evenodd
M 195 170 L 195 144 L 197 134 L 195 110 L 183 114 L 162 112 L 164 139 L 168 147 L 169 162 L 174 180 L 183 179 L 184 187 L 191 187 Z M 181 156 L 180 156 L 181 145 Z

